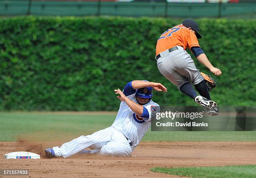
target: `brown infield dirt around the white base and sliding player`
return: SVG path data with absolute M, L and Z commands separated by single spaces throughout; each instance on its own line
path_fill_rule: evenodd
M 60 142 L 0 142 L 1 169 L 29 169 L 29 177 L 179 177 L 153 173 L 154 167 L 196 167 L 256 164 L 256 142 L 141 142 L 130 158 L 77 154 L 44 158 L 44 148 Z M 30 151 L 39 160 L 4 159 L 4 154 Z M 3 177 L 3 175 L 0 177 Z

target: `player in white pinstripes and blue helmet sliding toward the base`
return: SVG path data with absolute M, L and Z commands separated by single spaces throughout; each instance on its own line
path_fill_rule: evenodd
M 61 147 L 47 148 L 46 158 L 67 158 L 80 152 L 130 156 L 150 127 L 153 114 L 160 112 L 159 105 L 152 101 L 153 89 L 167 92 L 166 87 L 160 83 L 139 80 L 130 81 L 123 92 L 115 89 L 121 103 L 114 123 L 92 135 L 82 135 L 64 143 Z

